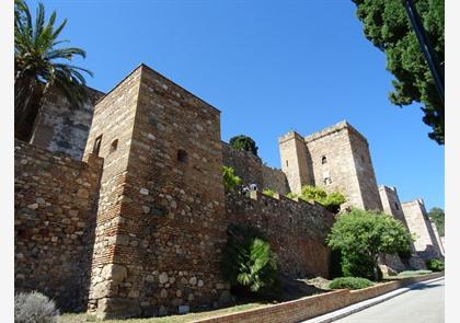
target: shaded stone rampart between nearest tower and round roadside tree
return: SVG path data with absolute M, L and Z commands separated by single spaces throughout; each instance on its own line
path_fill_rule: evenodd
M 226 194 L 227 224 L 258 228 L 279 257 L 287 276 L 329 276 L 330 251 L 325 238 L 334 216 L 319 204 L 273 198 L 252 192 L 251 197 Z

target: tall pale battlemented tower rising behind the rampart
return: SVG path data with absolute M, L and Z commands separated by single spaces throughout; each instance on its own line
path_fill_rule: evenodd
M 306 138 L 289 132 L 279 139 L 279 149 L 292 192 L 299 193 L 303 185 L 321 186 L 327 193 L 345 194 L 347 205 L 382 209 L 369 145 L 347 122 Z

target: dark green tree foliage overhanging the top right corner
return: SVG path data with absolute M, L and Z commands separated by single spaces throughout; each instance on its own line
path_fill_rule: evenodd
M 399 106 L 423 103 L 428 137 L 444 145 L 444 104 L 401 0 L 353 0 L 364 33 L 387 55 L 387 70 L 395 80 L 390 101 Z M 444 0 L 414 1 L 439 62 L 444 62 Z

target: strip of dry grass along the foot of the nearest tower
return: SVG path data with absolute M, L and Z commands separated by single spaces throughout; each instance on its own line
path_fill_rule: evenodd
M 202 319 L 241 312 L 252 310 L 256 308 L 267 307 L 269 303 L 246 303 L 239 304 L 231 308 L 225 308 L 207 312 L 188 313 L 185 315 L 170 315 L 163 318 L 150 318 L 150 319 L 127 319 L 127 320 L 99 320 L 94 315 L 80 313 L 80 314 L 62 314 L 58 319 L 58 323 L 87 323 L 87 322 L 104 322 L 104 323 L 186 323 L 194 322 Z

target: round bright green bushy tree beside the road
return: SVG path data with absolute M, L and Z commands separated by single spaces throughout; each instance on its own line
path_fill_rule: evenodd
M 384 214 L 352 209 L 337 217 L 327 245 L 342 253 L 344 276 L 379 280 L 379 254 L 407 251 L 412 237 L 403 223 Z

